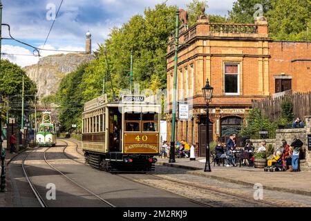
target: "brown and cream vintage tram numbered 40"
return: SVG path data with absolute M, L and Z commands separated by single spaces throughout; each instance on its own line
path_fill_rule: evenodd
M 152 171 L 159 154 L 161 106 L 128 95 L 84 104 L 82 149 L 86 162 L 105 171 Z

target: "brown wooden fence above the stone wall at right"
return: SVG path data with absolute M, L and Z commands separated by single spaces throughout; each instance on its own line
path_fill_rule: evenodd
M 259 108 L 263 115 L 269 117 L 271 121 L 276 121 L 281 117 L 281 104 L 284 101 L 292 102 L 294 117 L 301 120 L 307 115 L 311 115 L 311 92 L 309 93 L 285 93 L 282 96 L 253 100 L 252 108 Z

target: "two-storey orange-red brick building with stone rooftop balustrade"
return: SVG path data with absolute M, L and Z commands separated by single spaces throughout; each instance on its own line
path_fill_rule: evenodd
M 197 23 L 180 28 L 178 102 L 189 104 L 189 119 L 176 119 L 176 140 L 187 140 L 205 155 L 206 79 L 214 87 L 210 103 L 210 137 L 238 133 L 252 99 L 292 89 L 309 91 L 311 42 L 272 41 L 261 17 L 252 24 Z M 167 137 L 171 138 L 174 41 L 167 51 Z M 178 112 L 178 110 L 177 110 Z M 178 114 L 177 114 L 178 115 Z

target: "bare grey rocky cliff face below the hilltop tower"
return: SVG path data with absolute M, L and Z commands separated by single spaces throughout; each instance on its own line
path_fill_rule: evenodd
M 38 64 L 23 70 L 37 84 L 38 96 L 45 97 L 57 92 L 59 83 L 66 74 L 77 70 L 80 64 L 88 63 L 93 55 L 80 53 L 50 55 L 39 59 Z

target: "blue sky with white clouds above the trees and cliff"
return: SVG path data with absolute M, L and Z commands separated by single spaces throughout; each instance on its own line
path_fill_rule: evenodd
M 44 41 L 53 23 L 62 0 L 2 0 L 2 23 L 10 25 L 10 34 L 15 39 L 35 47 L 57 50 L 85 50 L 85 34 L 92 34 L 92 50 L 104 43 L 111 28 L 136 14 L 142 15 L 145 8 L 153 8 L 166 0 L 63 0 L 46 45 Z M 167 5 L 186 8 L 191 0 L 167 0 Z M 209 0 L 207 14 L 227 15 L 234 0 Z M 6 26 L 2 26 L 2 37 L 8 38 Z M 21 67 L 36 64 L 38 57 L 32 56 L 32 48 L 17 41 L 2 40 L 2 58 L 9 59 Z M 41 56 L 60 52 L 41 51 Z M 15 55 L 12 55 L 15 54 Z

